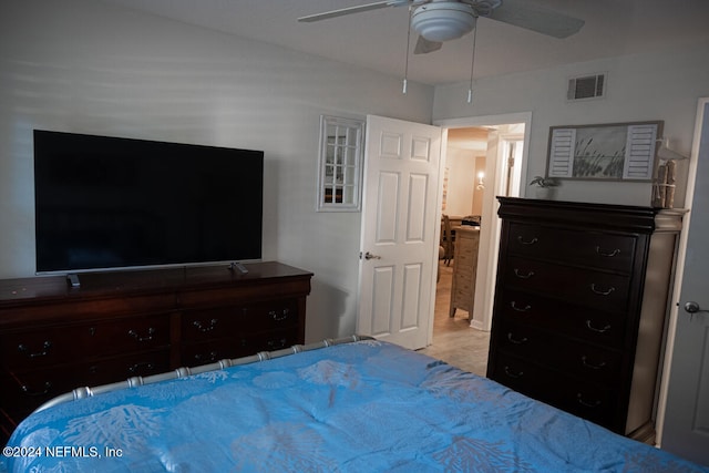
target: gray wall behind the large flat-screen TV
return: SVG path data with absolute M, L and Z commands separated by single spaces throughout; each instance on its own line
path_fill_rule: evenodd
M 320 114 L 430 123 L 433 89 L 92 0 L 0 2 L 0 277 L 34 274 L 32 130 L 265 151 L 264 259 L 354 331 L 360 214 L 316 213 Z M 243 205 L 243 203 L 235 203 Z

